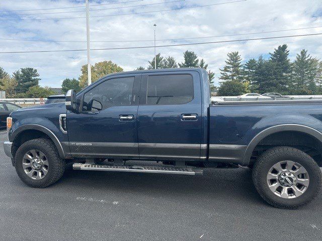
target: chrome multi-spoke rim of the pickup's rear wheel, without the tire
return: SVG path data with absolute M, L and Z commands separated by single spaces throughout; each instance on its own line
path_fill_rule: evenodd
M 267 184 L 275 195 L 282 198 L 295 198 L 307 190 L 309 176 L 300 164 L 293 161 L 281 161 L 269 170 Z

